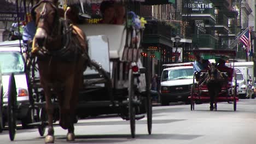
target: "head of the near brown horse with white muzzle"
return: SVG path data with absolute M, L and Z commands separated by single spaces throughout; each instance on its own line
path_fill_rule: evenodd
M 56 36 L 59 27 L 57 0 L 41 0 L 32 8 L 31 15 L 37 26 L 34 43 L 42 47 L 47 39 Z

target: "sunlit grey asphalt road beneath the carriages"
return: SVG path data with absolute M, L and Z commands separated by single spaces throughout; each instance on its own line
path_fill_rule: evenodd
M 79 119 L 76 140 L 71 143 L 252 143 L 256 141 L 256 99 L 240 100 L 233 105 L 218 103 L 218 111 L 209 104 L 153 107 L 153 132 L 148 135 L 147 119 L 136 121 L 136 138 L 130 135 L 129 121 L 119 117 Z M 66 142 L 66 130 L 55 125 L 55 143 Z M 44 143 L 36 128 L 18 129 L 14 141 L 8 130 L 0 134 L 0 143 Z

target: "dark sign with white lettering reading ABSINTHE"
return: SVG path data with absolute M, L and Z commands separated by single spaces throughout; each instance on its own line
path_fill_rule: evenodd
M 184 5 L 185 8 L 190 8 L 192 11 L 205 11 L 206 9 L 212 9 L 213 4 L 209 1 L 194 0 L 191 3 Z

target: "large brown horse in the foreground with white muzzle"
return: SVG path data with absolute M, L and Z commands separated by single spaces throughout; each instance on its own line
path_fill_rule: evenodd
M 57 0 L 39 1 L 31 11 L 37 26 L 32 54 L 38 58 L 48 113 L 45 143 L 54 143 L 53 93 L 59 103 L 59 124 L 68 129 L 67 140 L 74 140 L 75 106 L 79 88 L 83 86 L 83 71 L 89 61 L 85 34 L 68 20 L 60 18 L 58 11 Z

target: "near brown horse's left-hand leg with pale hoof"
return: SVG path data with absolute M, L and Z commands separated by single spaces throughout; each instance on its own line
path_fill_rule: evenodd
M 53 112 L 54 106 L 51 102 L 51 92 L 49 87 L 44 87 L 45 94 L 45 109 L 48 114 L 48 134 L 45 136 L 45 143 L 54 143 L 54 128 L 53 128 Z

